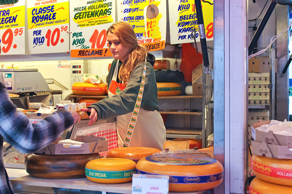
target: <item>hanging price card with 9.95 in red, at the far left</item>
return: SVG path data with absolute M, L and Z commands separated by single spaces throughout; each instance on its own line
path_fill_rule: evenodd
M 1 55 L 25 54 L 25 1 L 0 5 Z

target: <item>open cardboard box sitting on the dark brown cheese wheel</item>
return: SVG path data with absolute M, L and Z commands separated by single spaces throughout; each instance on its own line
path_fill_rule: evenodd
M 104 137 L 94 137 L 88 135 L 79 135 L 74 141 L 84 142 L 80 147 L 64 147 L 63 144 L 58 144 L 60 140 L 59 137 L 52 144 L 38 150 L 37 154 L 48 154 L 48 155 L 69 155 L 69 154 L 92 154 L 101 151 L 108 150 L 108 140 Z

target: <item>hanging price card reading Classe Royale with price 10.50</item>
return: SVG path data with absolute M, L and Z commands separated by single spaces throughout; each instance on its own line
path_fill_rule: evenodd
M 30 54 L 69 51 L 69 0 L 27 0 Z

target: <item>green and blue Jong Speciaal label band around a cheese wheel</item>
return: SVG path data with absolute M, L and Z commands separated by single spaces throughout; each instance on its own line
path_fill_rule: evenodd
M 135 172 L 136 172 L 136 169 L 123 170 L 123 171 L 102 171 L 102 170 L 92 170 L 92 169 L 85 168 L 85 175 L 91 178 L 106 178 L 106 179 L 131 178 L 133 173 Z

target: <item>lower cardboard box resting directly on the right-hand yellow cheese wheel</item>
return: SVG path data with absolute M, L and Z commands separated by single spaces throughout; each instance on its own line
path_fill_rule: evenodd
M 252 154 L 277 159 L 292 159 L 288 146 L 277 146 L 267 142 L 252 141 Z

